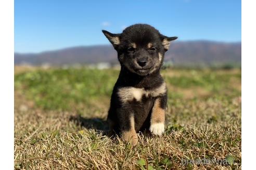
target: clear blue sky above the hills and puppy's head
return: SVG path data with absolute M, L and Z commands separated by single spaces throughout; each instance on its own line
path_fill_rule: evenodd
M 178 40 L 241 41 L 241 1 L 15 1 L 15 52 L 109 44 L 134 23 Z

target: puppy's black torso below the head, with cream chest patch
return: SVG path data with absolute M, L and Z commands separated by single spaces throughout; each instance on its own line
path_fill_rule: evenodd
M 129 120 L 133 115 L 136 132 L 148 129 L 152 107 L 160 96 L 164 109 L 167 91 L 159 73 L 141 77 L 122 68 L 111 96 L 108 120 L 112 122 L 112 128 L 115 131 L 130 130 Z

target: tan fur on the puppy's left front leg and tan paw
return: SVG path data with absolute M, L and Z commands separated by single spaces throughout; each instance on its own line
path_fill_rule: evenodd
M 131 129 L 129 131 L 123 131 L 122 135 L 125 141 L 130 141 L 134 146 L 138 143 L 138 136 L 136 134 L 135 127 L 134 127 L 134 115 L 131 115 L 130 123 L 131 123 Z

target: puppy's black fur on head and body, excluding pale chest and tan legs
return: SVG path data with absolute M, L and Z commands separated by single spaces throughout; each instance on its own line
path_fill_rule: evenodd
M 121 71 L 114 85 L 108 121 L 112 123 L 116 132 L 131 129 L 130 117 L 134 115 L 135 131 L 148 129 L 150 125 L 151 110 L 156 98 L 161 98 L 160 107 L 165 109 L 167 92 L 159 96 L 143 95 L 141 100 L 135 98 L 123 103 L 118 90 L 124 87 L 154 90 L 163 84 L 160 68 L 164 53 L 168 50 L 163 41 L 170 42 L 177 37 L 163 36 L 154 27 L 147 24 L 135 24 L 127 27 L 121 34 L 112 34 L 103 31 L 118 52 Z M 148 48 L 149 43 L 151 44 Z M 136 46 L 134 48 L 134 46 Z M 160 56 L 162 56 L 161 60 Z

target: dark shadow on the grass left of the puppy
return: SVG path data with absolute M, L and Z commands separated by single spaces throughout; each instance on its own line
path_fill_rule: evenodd
M 70 121 L 76 123 L 76 125 L 85 127 L 86 129 L 93 129 L 104 134 L 108 133 L 107 121 L 101 118 L 83 118 L 81 115 L 71 116 Z

